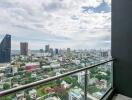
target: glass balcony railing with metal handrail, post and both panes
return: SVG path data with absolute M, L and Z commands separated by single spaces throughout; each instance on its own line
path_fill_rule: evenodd
M 112 88 L 113 59 L 0 92 L 0 100 L 100 100 Z

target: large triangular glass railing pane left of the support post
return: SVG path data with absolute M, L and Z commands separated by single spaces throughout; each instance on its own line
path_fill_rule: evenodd
M 4 96 L 0 100 L 84 100 L 84 75 L 84 72 L 79 72 Z

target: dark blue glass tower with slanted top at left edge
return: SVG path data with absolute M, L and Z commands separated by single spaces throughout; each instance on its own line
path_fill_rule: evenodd
M 6 35 L 0 43 L 0 63 L 10 62 L 11 59 L 11 35 Z

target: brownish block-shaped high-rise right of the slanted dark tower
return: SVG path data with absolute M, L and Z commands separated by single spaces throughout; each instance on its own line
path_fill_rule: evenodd
M 21 55 L 24 55 L 24 56 L 28 55 L 28 43 L 27 42 L 20 43 L 20 51 L 21 51 Z

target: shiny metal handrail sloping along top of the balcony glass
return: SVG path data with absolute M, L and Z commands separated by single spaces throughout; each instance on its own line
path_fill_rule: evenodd
M 22 85 L 22 86 L 19 86 L 19 87 L 15 87 L 15 88 L 11 88 L 11 89 L 8 89 L 8 90 L 5 90 L 5 91 L 1 91 L 0 92 L 0 97 L 6 96 L 6 95 L 9 95 L 9 94 L 12 94 L 12 93 L 16 93 L 18 91 L 25 90 L 25 89 L 28 89 L 28 88 L 32 88 L 32 87 L 35 87 L 35 86 L 38 86 L 38 85 L 41 85 L 41 84 L 44 84 L 44 83 L 48 83 L 50 81 L 54 81 L 54 80 L 57 80 L 57 79 L 60 79 L 60 78 L 78 73 L 78 72 L 86 71 L 86 70 L 89 70 L 91 68 L 106 64 L 106 63 L 114 61 L 114 60 L 115 59 L 105 60 L 105 61 L 102 61 L 102 63 L 98 63 L 98 64 L 91 65 L 91 66 L 88 66 L 88 67 L 85 67 L 85 68 L 73 70 L 73 71 L 58 75 L 58 76 L 50 77 L 50 78 L 47 78 L 47 79 L 44 79 L 44 80 L 36 81 L 36 82 L 33 82 L 33 83 L 29 83 L 29 84 L 26 84 L 26 85 Z

